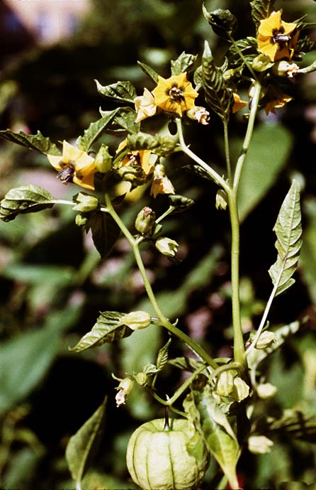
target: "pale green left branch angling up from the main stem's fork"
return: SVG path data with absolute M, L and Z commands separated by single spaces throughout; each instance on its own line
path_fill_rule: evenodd
M 120 229 L 122 230 L 123 234 L 125 235 L 125 238 L 128 239 L 128 242 L 132 248 L 132 252 L 135 256 L 135 260 L 137 263 L 137 266 L 139 268 L 140 274 L 142 276 L 142 281 L 145 286 L 145 290 L 147 293 L 147 296 L 149 298 L 150 303 L 152 303 L 152 307 L 154 308 L 154 312 L 156 313 L 157 317 L 159 318 L 160 325 L 162 327 L 167 328 L 171 334 L 174 334 L 176 337 L 178 337 L 182 342 L 187 344 L 193 352 L 195 352 L 200 359 L 205 361 L 212 369 L 217 369 L 218 364 L 205 352 L 205 350 L 197 344 L 191 337 L 189 337 L 187 334 L 182 332 L 182 330 L 179 330 L 179 328 L 176 327 L 176 325 L 172 324 L 167 317 L 164 316 L 164 313 L 160 309 L 156 297 L 154 295 L 154 291 L 152 290 L 152 286 L 149 283 L 147 273 L 145 270 L 144 263 L 142 262 L 142 257 L 140 255 L 140 249 L 138 247 L 137 239 L 135 239 L 132 234 L 128 231 L 128 229 L 125 227 L 125 224 L 123 223 L 122 219 L 118 216 L 117 212 L 115 212 L 115 209 L 113 208 L 112 202 L 111 202 L 111 197 L 106 193 L 105 195 L 106 198 L 106 208 L 101 208 L 102 211 L 108 212 L 111 214 L 111 217 L 115 220 L 115 222 L 118 224 Z

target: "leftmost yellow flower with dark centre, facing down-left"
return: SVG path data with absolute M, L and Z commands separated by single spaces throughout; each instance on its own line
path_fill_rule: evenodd
M 47 155 L 47 158 L 52 166 L 58 170 L 57 178 L 63 184 L 67 185 L 69 182 L 73 182 L 86 189 L 94 190 L 96 168 L 94 166 L 94 158 L 89 156 L 88 153 L 64 141 L 62 157 Z

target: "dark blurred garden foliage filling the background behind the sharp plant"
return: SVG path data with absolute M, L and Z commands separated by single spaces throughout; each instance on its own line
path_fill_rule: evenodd
M 211 0 L 205 5 L 235 13 L 237 38 L 254 36 L 248 0 Z M 284 9 L 286 21 L 305 13 L 307 21 L 316 21 L 315 2 L 277 1 L 277 8 Z M 96 92 L 94 79 L 102 85 L 130 80 L 140 94 L 144 86 L 152 87 L 137 60 L 169 77 L 169 61 L 183 50 L 201 55 L 205 39 L 221 62 L 227 45 L 214 36 L 201 9 L 198 0 L 93 0 L 67 40 L 44 47 L 30 40 L 29 48 L 23 41 L 23 53 L 18 48 L 10 56 L 1 53 L 1 129 L 32 134 L 39 129 L 52 141 L 71 141 L 98 119 L 100 106 L 111 109 Z M 310 36 L 316 39 L 315 28 Z M 292 178 L 302 187 L 304 235 L 296 282 L 275 300 L 270 322 L 276 327 L 305 319 L 305 327 L 269 358 L 267 379 L 278 392 L 273 401 L 261 402 L 262 413 L 293 406 L 315 413 L 315 84 L 315 74 L 297 77 L 295 98 L 285 109 L 269 118 L 259 114 L 240 188 L 240 292 L 244 331 L 249 332 L 257 327 L 271 291 L 267 271 L 276 258 L 272 228 L 278 209 Z M 242 115 L 236 114 L 230 123 L 233 158 L 245 127 Z M 188 126 L 186 139 L 202 157 L 224 168 L 216 116 L 206 127 Z M 120 142 L 118 136 L 104 141 L 112 152 Z M 170 262 L 147 248 L 145 265 L 164 314 L 179 317 L 179 325 L 214 356 L 230 356 L 229 222 L 225 212 L 215 209 L 215 185 L 188 173 L 187 164 L 184 156 L 172 156 L 168 173 L 176 192 L 193 198 L 195 205 L 164 225 L 165 233 L 180 244 L 181 262 Z M 1 197 L 11 187 L 29 183 L 57 197 L 77 192 L 73 185 L 60 185 L 45 157 L 9 142 L 0 146 L 0 171 Z M 167 207 L 164 196 L 141 196 L 121 207 L 125 223 L 132 226 L 148 202 L 157 213 Z M 119 240 L 113 254 L 101 261 L 90 237 L 75 226 L 72 209 L 55 206 L 1 222 L 0 261 L 0 484 L 21 490 L 71 488 L 64 459 L 67 440 L 108 393 L 106 432 L 86 489 L 132 489 L 125 467 L 128 437 L 143 421 L 162 416 L 162 409 L 140 388 L 132 391 L 127 405 L 115 408 L 117 383 L 111 373 L 124 377 L 154 362 L 167 337 L 149 329 L 117 345 L 81 354 L 68 350 L 91 330 L 99 311 L 150 309 L 125 241 Z M 183 353 L 183 347 L 172 342 L 171 355 Z M 179 381 L 180 372 L 166 369 L 158 387 L 164 393 L 164 386 Z M 270 454 L 254 457 L 245 452 L 242 457 L 239 475 L 246 489 L 315 480 L 315 445 L 290 437 L 273 442 Z

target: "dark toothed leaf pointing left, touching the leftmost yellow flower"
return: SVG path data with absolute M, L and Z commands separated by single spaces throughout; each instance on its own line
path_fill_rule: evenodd
M 23 131 L 13 133 L 10 129 L 6 129 L 6 131 L 0 131 L 0 138 L 13 141 L 13 143 L 18 143 L 21 146 L 26 146 L 30 150 L 40 151 L 44 155 L 59 156 L 62 154 L 55 143 L 52 143 L 50 138 L 45 138 L 40 131 L 37 134 L 26 134 Z

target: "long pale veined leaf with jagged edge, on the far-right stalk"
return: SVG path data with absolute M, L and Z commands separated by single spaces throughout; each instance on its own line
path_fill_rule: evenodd
M 276 263 L 269 268 L 276 295 L 283 293 L 295 280 L 292 278 L 298 266 L 302 246 L 302 216 L 300 214 L 300 186 L 293 180 L 283 201 L 273 232 L 276 233 Z

